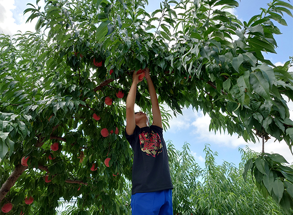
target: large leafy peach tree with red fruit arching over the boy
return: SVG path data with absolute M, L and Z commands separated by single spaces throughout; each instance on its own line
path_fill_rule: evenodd
M 134 71 L 149 67 L 161 104 L 211 117 L 210 130 L 293 146 L 292 59 L 275 66 L 277 25 L 293 6 L 272 0 L 249 21 L 235 0 L 45 0 L 28 4 L 36 32 L 0 35 L 0 206 L 5 213 L 55 214 L 77 198 L 79 214 L 125 214 L 132 151 L 124 135 Z M 137 105 L 150 111 L 147 86 Z M 163 110 L 164 127 L 169 114 Z M 293 170 L 279 154 L 251 158 L 265 196 L 290 213 Z M 176 185 L 175 185 L 176 186 Z M 32 197 L 32 198 L 31 198 Z M 28 204 L 29 203 L 29 204 Z M 12 206 L 12 207 L 11 207 Z

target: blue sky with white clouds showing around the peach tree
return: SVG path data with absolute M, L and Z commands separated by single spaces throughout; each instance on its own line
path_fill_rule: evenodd
M 151 13 L 160 7 L 161 0 L 148 0 L 146 11 Z M 259 14 L 259 8 L 267 7 L 269 0 L 241 0 L 239 7 L 231 11 L 241 21 L 249 21 L 249 19 Z M 0 0 L 0 33 L 16 34 L 17 31 L 24 33 L 25 31 L 34 31 L 37 20 L 25 23 L 29 13 L 23 16 L 23 11 L 28 7 L 27 3 L 35 5 L 35 0 Z M 42 0 L 39 5 L 42 5 Z M 276 35 L 275 39 L 278 44 L 277 54 L 265 54 L 266 59 L 272 61 L 275 65 L 282 65 L 293 56 L 293 18 L 285 15 L 288 26 L 278 24 L 278 28 L 283 34 Z M 292 70 L 293 71 L 293 70 Z M 291 119 L 293 120 L 293 103 L 288 104 Z M 260 152 L 261 143 L 246 143 L 242 137 L 238 138 L 237 134 L 232 136 L 225 134 L 223 131 L 214 133 L 209 132 L 210 118 L 204 115 L 202 111 L 193 111 L 192 108 L 184 108 L 183 115 L 177 115 L 169 121 L 170 129 L 164 133 L 165 141 L 171 141 L 177 150 L 181 150 L 184 143 L 189 143 L 189 149 L 195 157 L 196 162 L 204 167 L 205 153 L 204 148 L 209 144 L 212 151 L 217 151 L 218 156 L 216 162 L 221 164 L 223 161 L 234 163 L 238 166 L 241 161 L 239 148 L 245 148 L 247 145 L 251 150 Z M 265 144 L 266 152 L 279 153 L 285 159 L 293 164 L 293 155 L 291 154 L 287 144 L 282 142 L 274 142 L 274 138 Z

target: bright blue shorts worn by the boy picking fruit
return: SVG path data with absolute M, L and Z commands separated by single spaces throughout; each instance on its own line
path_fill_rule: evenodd
M 131 195 L 132 215 L 173 215 L 172 190 Z

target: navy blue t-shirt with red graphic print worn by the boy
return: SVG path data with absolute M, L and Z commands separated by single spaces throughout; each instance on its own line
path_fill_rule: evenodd
M 131 193 L 173 189 L 163 129 L 136 126 L 133 134 L 126 133 L 126 139 L 134 151 Z

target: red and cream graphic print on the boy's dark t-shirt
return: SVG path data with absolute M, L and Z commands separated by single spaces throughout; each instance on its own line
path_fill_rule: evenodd
M 142 132 L 139 134 L 141 150 L 146 152 L 147 155 L 156 157 L 163 151 L 163 146 L 161 143 L 161 138 L 159 134 L 155 133 L 153 130 L 151 133 Z

